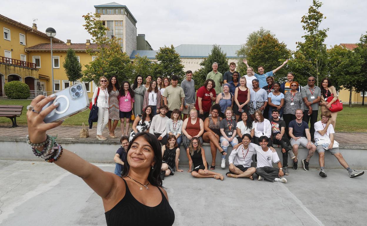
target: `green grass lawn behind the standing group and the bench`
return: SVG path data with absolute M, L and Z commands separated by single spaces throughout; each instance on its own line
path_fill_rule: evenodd
M 23 105 L 23 112 L 20 117 L 17 118 L 18 125 L 26 125 L 26 106 L 30 104 L 31 100 L 0 100 L 0 105 Z M 73 115 L 65 122 L 63 126 L 81 126 L 84 122 L 88 125 L 89 110 L 80 112 L 79 114 Z M 344 109 L 338 112 L 336 131 L 343 132 L 367 132 L 367 105 L 353 105 L 352 108 L 349 105 L 344 105 Z M 320 120 L 320 116 L 319 116 Z M 94 123 L 96 124 L 96 123 Z M 11 126 L 11 121 L 8 118 L 0 117 L 0 125 Z M 118 125 L 118 127 L 120 127 Z

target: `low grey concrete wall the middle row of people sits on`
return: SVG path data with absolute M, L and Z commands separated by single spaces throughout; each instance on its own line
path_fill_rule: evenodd
M 58 143 L 63 148 L 68 149 L 79 155 L 81 158 L 88 162 L 94 163 L 113 163 L 113 156 L 116 150 L 120 147 L 119 141 L 107 140 L 98 141 L 93 138 L 58 138 Z M 203 144 L 205 150 L 205 156 L 209 165 L 211 164 L 211 152 L 210 146 L 207 143 Z M 277 150 L 279 159 L 282 160 L 281 149 Z M 366 146 L 349 146 L 339 145 L 340 152 L 344 156 L 344 159 L 351 168 L 366 169 L 367 168 L 367 147 Z M 179 155 L 179 164 L 181 166 L 188 166 L 188 158 L 186 155 L 185 148 L 181 145 Z M 232 147 L 228 148 L 228 156 L 232 151 Z M 317 152 L 317 151 L 316 151 Z M 298 160 L 299 167 L 302 167 L 301 159 L 305 159 L 308 150 L 305 148 L 299 148 Z M 25 160 L 25 161 L 43 161 L 33 155 L 29 145 L 25 142 L 25 137 L 0 137 L 0 159 L 1 160 Z M 221 154 L 217 152 L 216 166 L 220 167 Z M 226 165 L 228 166 L 228 157 L 226 158 Z M 288 165 L 292 166 L 292 160 L 288 158 Z M 315 153 L 310 161 L 310 168 L 319 167 L 318 153 Z M 343 168 L 338 160 L 330 154 L 325 153 L 325 167 L 326 168 Z

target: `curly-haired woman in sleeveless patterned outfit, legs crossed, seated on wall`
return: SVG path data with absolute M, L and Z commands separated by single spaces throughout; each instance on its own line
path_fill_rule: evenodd
M 219 144 L 219 138 L 221 137 L 221 131 L 219 130 L 219 125 L 221 123 L 222 118 L 219 117 L 219 112 L 221 111 L 221 107 L 219 104 L 214 104 L 211 106 L 210 113 L 208 118 L 204 121 L 204 130 L 203 141 L 210 144 L 210 152 L 211 152 L 211 166 L 210 170 L 215 169 L 215 158 L 217 158 L 217 149 L 219 152 L 223 152 L 223 148 Z

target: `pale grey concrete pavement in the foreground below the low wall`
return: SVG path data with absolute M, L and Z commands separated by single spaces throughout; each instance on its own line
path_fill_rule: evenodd
M 96 164 L 113 172 L 114 164 Z M 166 177 L 174 225 L 366 225 L 366 175 L 290 169 L 287 184 L 247 178 Z M 216 168 L 218 173 L 228 171 Z M 106 225 L 101 199 L 79 177 L 46 162 L 0 160 L 0 225 Z

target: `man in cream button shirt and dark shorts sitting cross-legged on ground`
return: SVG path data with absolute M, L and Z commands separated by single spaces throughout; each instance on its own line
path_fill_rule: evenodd
M 256 149 L 261 149 L 261 146 L 251 143 L 251 135 L 243 134 L 241 140 L 242 145 L 235 145 L 229 155 L 229 172 L 227 177 L 240 178 L 247 177 L 253 180 L 252 174 L 256 172 L 255 167 L 251 167 L 252 155 L 256 153 Z M 273 152 L 276 150 L 269 147 Z

